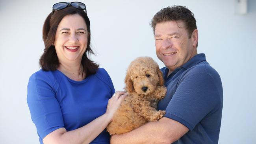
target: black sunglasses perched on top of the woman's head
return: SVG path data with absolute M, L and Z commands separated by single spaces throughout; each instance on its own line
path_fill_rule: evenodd
M 58 2 L 52 6 L 52 15 L 53 15 L 54 11 L 65 9 L 69 5 L 77 8 L 77 9 L 83 9 L 83 10 L 85 10 L 85 13 L 86 13 L 85 4 L 83 4 L 82 2 Z

